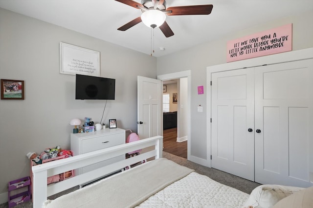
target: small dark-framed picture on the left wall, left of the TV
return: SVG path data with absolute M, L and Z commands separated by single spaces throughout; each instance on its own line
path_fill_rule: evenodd
M 1 99 L 24 99 L 24 81 L 1 79 Z

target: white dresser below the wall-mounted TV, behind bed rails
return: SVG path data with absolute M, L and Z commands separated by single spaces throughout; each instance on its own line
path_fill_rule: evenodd
M 101 150 L 104 148 L 112 147 L 125 143 L 125 130 L 124 129 L 102 129 L 96 132 L 88 133 L 71 133 L 70 134 L 70 149 L 74 152 L 74 155 L 84 154 L 89 151 Z M 114 157 L 110 160 L 106 160 L 100 163 L 96 163 L 90 166 L 85 166 L 80 169 L 76 169 L 76 175 L 88 172 L 100 168 L 105 165 L 109 165 L 113 162 L 124 160 L 125 155 Z

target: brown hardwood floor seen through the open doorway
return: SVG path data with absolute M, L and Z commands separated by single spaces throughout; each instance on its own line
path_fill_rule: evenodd
M 177 128 L 163 131 L 163 151 L 187 159 L 187 141 L 177 142 Z

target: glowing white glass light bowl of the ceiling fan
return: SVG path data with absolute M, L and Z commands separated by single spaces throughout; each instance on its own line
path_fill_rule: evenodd
M 156 28 L 161 26 L 166 19 L 166 15 L 156 9 L 147 10 L 141 14 L 142 22 L 148 27 Z

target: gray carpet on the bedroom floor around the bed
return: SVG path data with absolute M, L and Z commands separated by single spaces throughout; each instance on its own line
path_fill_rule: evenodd
M 220 182 L 221 184 L 225 184 L 227 186 L 233 187 L 235 189 L 239 189 L 239 190 L 244 191 L 244 192 L 249 193 L 249 194 L 251 193 L 251 191 L 255 187 L 260 185 L 258 183 L 246 180 L 244 178 L 241 178 L 241 177 L 238 177 L 238 176 L 226 173 L 226 172 L 223 172 L 221 170 L 216 170 L 213 168 L 207 168 L 207 167 L 201 166 L 199 164 L 190 162 L 185 158 L 178 157 L 176 155 L 167 153 L 165 151 L 163 151 L 163 157 L 165 157 L 169 160 L 172 160 L 172 161 L 178 163 L 179 165 L 182 165 L 182 166 L 188 167 L 190 169 L 196 170 L 196 172 L 198 172 L 202 175 L 206 175 L 206 176 L 210 177 L 211 179 Z M 78 189 L 78 186 L 71 188 L 71 189 L 68 189 L 68 190 L 65 190 L 65 191 L 58 193 L 58 194 L 55 194 L 53 196 L 50 196 L 48 198 L 49 199 L 55 199 L 55 198 L 57 198 L 63 194 L 69 193 L 69 192 L 76 190 L 76 189 Z M 31 203 L 31 201 L 29 201 L 29 202 L 22 203 L 22 204 L 14 207 L 14 208 L 32 208 L 32 207 L 33 207 L 33 204 Z M 0 208 L 8 208 L 8 203 L 0 204 Z

